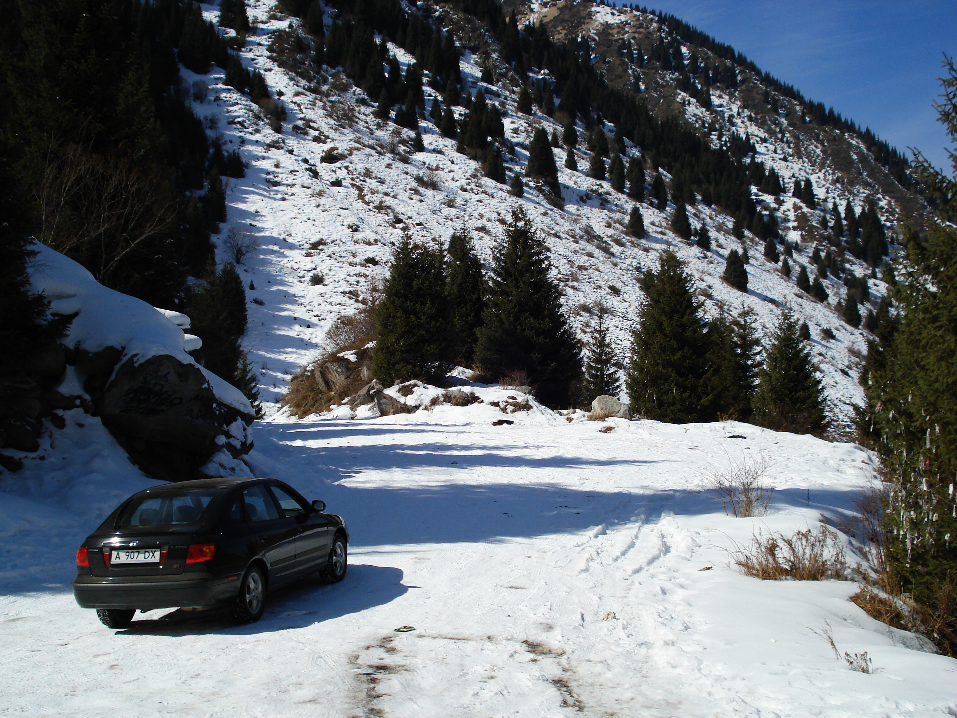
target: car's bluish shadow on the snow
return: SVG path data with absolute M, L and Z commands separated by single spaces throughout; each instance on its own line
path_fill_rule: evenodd
M 318 575 L 306 576 L 278 589 L 266 599 L 266 610 L 256 623 L 236 625 L 225 608 L 208 611 L 176 610 L 137 614 L 122 636 L 201 636 L 226 634 L 252 636 L 260 633 L 305 628 L 332 618 L 381 606 L 409 591 L 402 584 L 401 569 L 369 564 L 350 564 L 342 583 L 328 584 Z

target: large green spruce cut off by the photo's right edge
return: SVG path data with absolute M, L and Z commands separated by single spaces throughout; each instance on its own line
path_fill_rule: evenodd
M 946 58 L 937 104 L 957 150 L 957 69 Z M 920 154 L 918 176 L 940 215 L 922 236 L 905 234 L 895 268 L 896 316 L 882 301 L 873 320 L 879 342 L 869 342 L 860 382 L 866 404 L 858 433 L 878 452 L 891 482 L 883 514 L 890 575 L 940 618 L 938 645 L 957 655 L 957 159 L 946 176 Z M 851 218 L 848 220 L 850 228 Z M 949 592 L 949 593 L 948 593 Z M 949 597 L 948 597 L 949 596 Z

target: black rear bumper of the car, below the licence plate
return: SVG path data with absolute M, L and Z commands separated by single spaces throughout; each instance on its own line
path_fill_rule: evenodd
M 230 600 L 239 593 L 239 581 L 222 578 L 123 580 L 78 576 L 73 595 L 82 608 L 199 608 Z

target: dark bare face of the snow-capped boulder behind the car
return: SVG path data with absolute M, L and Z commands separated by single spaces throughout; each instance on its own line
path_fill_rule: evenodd
M 100 399 L 100 418 L 141 468 L 167 481 L 196 475 L 212 454 L 253 447 L 255 416 L 220 401 L 198 367 L 159 355 L 127 359 Z

